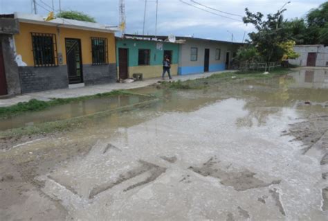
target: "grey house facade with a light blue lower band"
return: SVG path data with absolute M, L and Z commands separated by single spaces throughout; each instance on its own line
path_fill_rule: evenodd
M 179 50 L 179 75 L 230 69 L 241 43 L 194 37 L 176 37 L 185 41 Z

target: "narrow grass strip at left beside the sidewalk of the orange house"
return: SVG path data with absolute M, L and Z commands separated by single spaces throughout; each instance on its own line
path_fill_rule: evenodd
M 17 103 L 17 105 L 12 105 L 9 107 L 0 107 L 0 119 L 8 118 L 10 116 L 16 116 L 24 112 L 37 112 L 57 105 L 66 105 L 69 103 L 75 103 L 82 100 L 89 100 L 94 98 L 106 98 L 111 96 L 129 95 L 129 94 L 133 94 L 133 93 L 124 90 L 115 90 L 115 91 L 110 91 L 110 92 L 95 94 L 90 96 L 80 96 L 77 98 L 53 98 L 48 101 L 31 99 L 28 102 Z

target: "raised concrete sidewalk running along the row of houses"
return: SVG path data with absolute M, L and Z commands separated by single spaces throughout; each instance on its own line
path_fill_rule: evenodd
M 226 70 L 228 71 L 228 70 Z M 173 76 L 173 80 L 194 80 L 197 78 L 206 78 L 211 76 L 214 73 L 222 73 L 226 71 L 215 71 L 215 72 L 208 72 L 208 73 L 198 73 L 192 74 L 187 76 Z M 233 72 L 233 71 L 231 71 Z M 166 77 L 167 79 L 167 77 Z M 8 107 L 10 105 L 15 105 L 19 102 L 26 102 L 30 99 L 37 99 L 37 100 L 50 100 L 51 98 L 75 98 L 80 96 L 87 96 L 93 94 L 99 94 L 104 92 L 109 92 L 118 89 L 134 89 L 138 87 L 146 87 L 148 85 L 153 85 L 154 83 L 161 80 L 161 78 L 149 78 L 143 81 L 136 81 L 131 83 L 110 83 L 104 85 L 92 85 L 86 87 L 80 87 L 75 89 L 57 89 L 51 91 L 41 91 L 35 92 L 30 94 L 22 94 L 15 96 L 13 98 L 8 99 L 1 99 L 0 100 L 0 107 Z

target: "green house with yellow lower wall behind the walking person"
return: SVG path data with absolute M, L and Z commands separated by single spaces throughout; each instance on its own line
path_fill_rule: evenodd
M 171 60 L 171 75 L 178 74 L 179 44 L 146 35 L 116 37 L 118 79 L 132 78 L 142 73 L 143 78 L 159 78 L 163 73 L 163 58 Z

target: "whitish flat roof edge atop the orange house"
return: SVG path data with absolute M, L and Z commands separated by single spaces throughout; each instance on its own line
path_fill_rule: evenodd
M 30 23 L 30 24 L 41 24 L 45 26 L 60 26 L 64 28 L 73 28 L 80 30 L 94 30 L 104 33 L 114 33 L 118 31 L 118 28 L 114 26 L 93 23 L 89 21 L 78 21 L 72 19 L 55 18 L 51 21 L 45 21 L 46 17 L 42 15 L 33 15 L 24 12 L 15 12 L 15 19 L 19 22 Z

